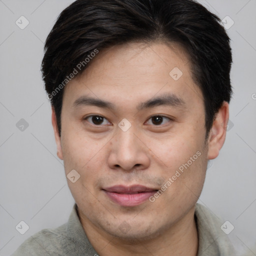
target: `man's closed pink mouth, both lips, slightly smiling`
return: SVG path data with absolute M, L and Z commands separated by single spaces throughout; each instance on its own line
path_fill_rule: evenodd
M 121 206 L 136 206 L 145 202 L 158 189 L 142 185 L 115 185 L 102 189 L 111 201 Z

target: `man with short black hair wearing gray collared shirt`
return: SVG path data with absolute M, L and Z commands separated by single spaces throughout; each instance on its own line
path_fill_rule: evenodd
M 192 0 L 77 0 L 42 60 L 75 205 L 13 255 L 234 255 L 196 204 L 225 140 L 229 38 Z

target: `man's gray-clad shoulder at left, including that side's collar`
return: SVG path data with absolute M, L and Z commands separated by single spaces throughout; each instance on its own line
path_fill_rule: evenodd
M 85 256 L 96 254 L 74 204 L 68 221 L 54 229 L 42 229 L 25 240 L 11 256 Z

